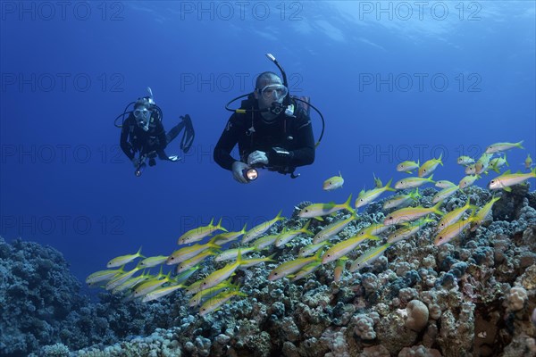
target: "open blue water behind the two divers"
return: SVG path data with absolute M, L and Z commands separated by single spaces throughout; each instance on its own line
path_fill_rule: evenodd
M 0 5 L 0 235 L 54 246 L 80 279 L 139 246 L 172 253 L 213 217 L 239 230 L 302 201 L 342 203 L 373 173 L 406 176 L 404 160 L 443 153 L 434 179 L 457 182 L 456 158 L 495 142 L 524 140 L 512 170 L 536 159 L 533 1 Z M 325 136 L 298 179 L 262 171 L 240 185 L 212 151 L 224 105 L 277 71 L 266 53 L 322 111 Z M 147 86 L 164 127 L 189 113 L 197 137 L 187 155 L 180 137 L 168 147 L 181 162 L 136 178 L 113 119 Z M 322 191 L 339 171 L 344 187 Z

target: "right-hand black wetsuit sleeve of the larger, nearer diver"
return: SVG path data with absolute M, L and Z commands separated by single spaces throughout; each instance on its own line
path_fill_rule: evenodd
M 298 167 L 310 165 L 314 162 L 314 135 L 311 120 L 305 113 L 302 113 L 299 118 L 295 131 L 296 148 L 290 150 L 289 155 L 278 155 L 275 152 L 269 153 L 268 162 L 270 162 L 270 165 Z

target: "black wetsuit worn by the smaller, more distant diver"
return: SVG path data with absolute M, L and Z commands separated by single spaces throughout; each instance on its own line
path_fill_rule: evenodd
M 162 120 L 153 112 L 149 129 L 145 131 L 138 127 L 134 115 L 130 113 L 121 128 L 121 150 L 130 160 L 134 159 L 137 152 L 140 156 L 155 152 L 160 159 L 169 160 L 168 155 L 163 150 L 179 135 L 180 130 L 183 128 L 184 122 L 181 121 L 166 134 L 163 129 Z

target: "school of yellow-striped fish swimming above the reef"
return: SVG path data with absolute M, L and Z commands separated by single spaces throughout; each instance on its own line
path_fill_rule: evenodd
M 125 301 L 140 299 L 142 302 L 157 300 L 165 295 L 182 289 L 184 294 L 191 296 L 189 306 L 199 309 L 200 315 L 208 314 L 218 310 L 222 304 L 227 303 L 234 296 L 245 296 L 239 291 L 239 286 L 233 285 L 232 276 L 236 270 L 245 270 L 264 262 L 276 262 L 272 254 L 268 257 L 247 259 L 248 253 L 264 252 L 286 246 L 292 239 L 300 235 L 312 237 L 312 244 L 302 247 L 297 259 L 283 262 L 277 266 L 268 276 L 268 280 L 273 281 L 279 278 L 291 278 L 296 281 L 304 278 L 322 266 L 330 262 L 335 262 L 333 276 L 338 281 L 344 270 L 347 268 L 348 254 L 354 251 L 364 240 L 383 241 L 382 235 L 390 228 L 392 230 L 387 236 L 387 241 L 371 249 L 366 250 L 348 268 L 348 271 L 355 272 L 371 264 L 379 258 L 389 246 L 395 245 L 398 241 L 412 237 L 420 228 L 427 223 L 436 222 L 431 218 L 433 215 L 440 217 L 435 227 L 434 245 L 443 245 L 452 239 L 460 236 L 466 229 L 476 230 L 485 221 L 494 203 L 499 197 L 493 197 L 490 202 L 482 207 L 474 206 L 467 200 L 464 206 L 454 209 L 451 212 L 442 212 L 440 206 L 443 200 L 457 191 L 470 187 L 477 179 L 482 178 L 482 174 L 488 174 L 489 170 L 500 173 L 501 167 L 508 166 L 507 155 L 504 154 L 509 149 L 521 148 L 523 141 L 518 143 L 496 143 L 489 145 L 478 160 L 468 156 L 460 156 L 457 163 L 465 166 L 466 176 L 460 179 L 459 183 L 447 180 L 432 180 L 432 173 L 439 165 L 442 154 L 439 158 L 433 158 L 422 165 L 419 162 L 400 162 L 397 165 L 399 172 L 413 174 L 417 171 L 417 176 L 400 179 L 391 187 L 392 180 L 383 186 L 381 180 L 374 177 L 375 187 L 370 190 L 362 190 L 356 198 L 354 207 L 350 205 L 352 195 L 348 196 L 345 203 L 314 203 L 302 208 L 298 212 L 301 219 L 323 220 L 322 217 L 333 215 L 336 212 L 346 210 L 349 212 L 348 218 L 331 222 L 314 234 L 310 231 L 311 220 L 306 220 L 302 228 L 291 230 L 284 228 L 279 234 L 264 235 L 277 222 L 284 220 L 281 211 L 272 219 L 262 224 L 246 230 L 246 226 L 239 231 L 229 232 L 222 227 L 222 220 L 214 225 L 214 219 L 207 226 L 197 227 L 185 232 L 179 237 L 178 244 L 184 245 L 180 249 L 169 255 L 159 255 L 144 257 L 141 255 L 141 248 L 137 253 L 121 255 L 113 258 L 107 263 L 107 270 L 96 271 L 88 276 L 86 283 L 89 286 L 102 286 L 113 294 L 121 294 Z M 495 154 L 502 154 L 493 158 Z M 497 178 L 491 179 L 488 185 L 490 190 L 504 189 L 510 191 L 512 186 L 522 184 L 527 179 L 536 178 L 536 169 L 532 169 L 532 159 L 528 155 L 524 162 L 527 173 L 511 173 L 510 170 L 502 173 Z M 326 179 L 322 189 L 331 191 L 342 187 L 344 179 L 339 172 L 339 176 Z M 432 206 L 423 207 L 421 205 L 412 206 L 421 195 L 419 188 L 424 184 L 433 183 L 441 190 L 432 197 Z M 373 203 L 380 195 L 389 191 L 401 189 L 412 189 L 407 195 L 394 195 L 385 201 L 383 210 L 397 209 L 385 214 L 382 222 L 362 228 L 356 235 L 343 239 L 337 244 L 331 244 L 330 240 L 338 237 L 337 234 L 346 228 L 351 222 L 358 220 L 357 209 L 368 203 Z M 465 212 L 471 211 L 469 217 L 463 219 Z M 215 232 L 220 232 L 205 244 L 200 244 L 206 237 L 212 236 Z M 226 245 L 242 236 L 239 248 L 222 250 L 222 245 Z M 229 262 L 222 269 L 214 270 L 205 278 L 185 285 L 188 278 L 192 277 L 200 267 L 200 263 L 207 257 L 214 256 L 214 262 Z M 138 258 L 144 258 L 138 260 Z M 130 262 L 138 260 L 137 265 L 131 270 L 125 270 L 125 266 Z M 175 266 L 174 275 L 172 270 L 167 274 L 163 273 L 164 265 Z M 149 270 L 160 266 L 158 274 L 150 274 Z M 138 275 L 137 275 L 138 273 Z

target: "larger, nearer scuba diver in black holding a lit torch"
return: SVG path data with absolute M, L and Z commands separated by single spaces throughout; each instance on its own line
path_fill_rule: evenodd
M 289 173 L 295 179 L 299 176 L 294 174 L 298 166 L 314 162 L 314 150 L 318 145 L 314 143 L 307 111 L 310 104 L 289 95 L 285 72 L 272 54 L 267 56 L 280 68 L 283 80 L 273 72 L 261 73 L 252 94 L 231 100 L 230 103 L 247 96 L 238 110 L 230 110 L 230 103 L 227 104 L 226 109 L 234 113 L 214 147 L 214 161 L 223 169 L 230 170 L 233 178 L 240 183 L 256 179 L 255 168 L 261 167 Z M 296 100 L 307 105 L 297 105 Z M 230 155 L 237 144 L 239 160 Z

